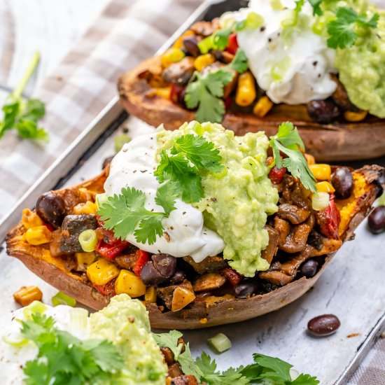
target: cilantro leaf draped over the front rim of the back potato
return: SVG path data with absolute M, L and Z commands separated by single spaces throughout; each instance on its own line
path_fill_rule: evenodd
M 223 87 L 231 82 L 234 73 L 228 69 L 242 73 L 248 69 L 247 57 L 244 50 L 238 48 L 232 62 L 224 68 L 205 75 L 195 71 L 186 89 L 185 102 L 189 109 L 196 109 L 199 122 L 221 123 L 225 113 L 223 102 Z

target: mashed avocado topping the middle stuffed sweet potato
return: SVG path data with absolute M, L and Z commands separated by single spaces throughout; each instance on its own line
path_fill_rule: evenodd
M 274 214 L 278 191 L 267 177 L 265 164 L 269 139 L 264 132 L 236 137 L 215 123 L 185 123 L 179 130 L 158 132 L 158 153 L 172 148 L 185 134 L 199 134 L 214 143 L 223 158 L 224 172 L 202 176 L 204 198 L 195 204 L 204 224 L 225 241 L 223 258 L 244 276 L 266 270 L 269 263 L 261 251 L 269 243 L 264 226 Z

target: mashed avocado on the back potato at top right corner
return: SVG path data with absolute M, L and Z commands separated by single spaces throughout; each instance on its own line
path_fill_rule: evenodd
M 379 14 L 376 29 L 365 29 L 354 45 L 337 49 L 335 67 L 351 102 L 374 116 L 385 118 L 385 11 L 367 0 L 325 0 L 323 10 L 335 13 L 338 7 L 357 13 Z

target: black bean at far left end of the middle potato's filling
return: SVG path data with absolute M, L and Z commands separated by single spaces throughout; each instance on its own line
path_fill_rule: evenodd
M 36 201 L 36 213 L 45 223 L 49 223 L 55 229 L 59 228 L 66 215 L 63 198 L 51 192 L 40 195 Z

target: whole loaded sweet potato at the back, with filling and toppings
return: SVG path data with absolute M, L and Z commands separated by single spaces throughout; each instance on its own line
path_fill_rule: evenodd
M 326 32 L 320 38 L 309 31 L 318 18 L 325 25 L 323 16 L 311 15 L 309 4 L 297 15 L 300 27 L 283 27 L 294 1 L 282 10 L 269 10 L 273 6 L 263 2 L 195 23 L 165 54 L 125 73 L 118 80 L 121 104 L 146 123 L 170 130 L 197 119 L 221 122 L 239 135 L 275 134 L 287 119 L 318 160 L 385 155 L 385 74 L 374 64 L 384 60 L 377 47 L 385 37 L 384 13 L 378 11 L 377 27 L 355 45 L 335 50 Z M 367 13 L 377 15 L 364 3 Z M 364 55 L 360 45 L 377 48 Z

